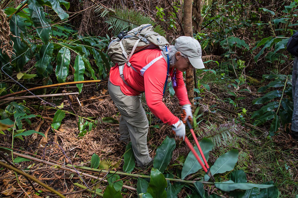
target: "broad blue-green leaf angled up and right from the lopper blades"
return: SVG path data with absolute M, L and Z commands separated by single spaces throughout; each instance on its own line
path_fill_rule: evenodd
M 226 171 L 231 171 L 235 167 L 238 161 L 238 150 L 232 149 L 226 152 L 224 155 L 217 158 L 214 164 L 210 168 L 211 174 L 225 173 Z M 209 176 L 205 174 L 205 181 L 209 180 Z

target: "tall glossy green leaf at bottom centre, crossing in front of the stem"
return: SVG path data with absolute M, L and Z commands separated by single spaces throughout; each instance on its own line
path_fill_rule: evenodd
M 149 192 L 153 198 L 166 198 L 166 187 L 167 181 L 165 180 L 163 174 L 158 169 L 152 168 L 147 192 Z

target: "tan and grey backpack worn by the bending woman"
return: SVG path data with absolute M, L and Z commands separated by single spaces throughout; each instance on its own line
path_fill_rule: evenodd
M 116 66 L 119 66 L 120 77 L 126 85 L 128 84 L 127 82 L 125 82 L 123 76 L 124 64 L 126 63 L 129 67 L 133 68 L 133 66 L 129 63 L 129 59 L 135 52 L 154 48 L 159 48 L 160 50 L 162 50 L 162 55 L 168 65 L 167 78 L 163 91 L 164 95 L 169 77 L 169 52 L 167 48 L 167 46 L 169 46 L 169 42 L 165 39 L 165 37 L 161 36 L 159 33 L 154 32 L 153 26 L 151 24 L 143 24 L 137 28 L 130 30 L 129 32 L 123 31 L 118 34 L 117 38 L 112 37 L 111 39 L 112 41 L 108 46 L 107 53 L 111 57 L 112 61 L 118 63 L 116 64 Z M 133 70 L 135 69 L 133 68 Z

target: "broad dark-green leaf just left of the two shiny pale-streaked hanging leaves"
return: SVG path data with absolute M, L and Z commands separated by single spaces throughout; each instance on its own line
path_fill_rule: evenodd
M 41 46 L 39 51 L 39 60 L 35 64 L 38 73 L 43 74 L 47 69 L 47 65 L 50 63 L 52 58 L 53 49 L 53 43 L 47 43 Z

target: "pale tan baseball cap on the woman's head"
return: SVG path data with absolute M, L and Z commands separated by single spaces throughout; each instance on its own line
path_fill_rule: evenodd
M 175 41 L 175 47 L 183 55 L 186 55 L 194 68 L 205 68 L 202 60 L 202 49 L 200 43 L 192 37 L 178 37 Z

